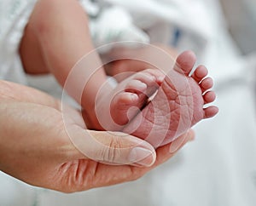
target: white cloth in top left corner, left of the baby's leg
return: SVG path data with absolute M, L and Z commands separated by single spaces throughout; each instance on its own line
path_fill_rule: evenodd
M 35 2 L 0 1 L 0 79 L 26 83 L 17 50 Z

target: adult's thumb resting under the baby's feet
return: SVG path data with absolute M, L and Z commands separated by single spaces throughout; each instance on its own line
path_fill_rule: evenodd
M 81 128 L 69 129 L 69 132 L 72 132 L 69 137 L 81 155 L 101 163 L 114 165 L 136 163 L 149 167 L 156 159 L 153 146 L 130 134 Z

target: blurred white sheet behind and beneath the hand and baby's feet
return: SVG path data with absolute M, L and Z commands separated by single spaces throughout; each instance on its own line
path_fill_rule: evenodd
M 2 6 L 3 1 L 0 2 Z M 249 57 L 241 56 L 227 32 L 218 0 L 98 2 L 100 4 L 90 4 L 91 14 L 98 14 L 97 9 L 102 7 L 102 3 L 108 3 L 108 6 L 114 3 L 122 8 L 125 18 L 129 19 L 131 14 L 132 19 L 128 21 L 131 27 L 136 27 L 140 32 L 148 31 L 151 41 L 173 43 L 180 50 L 195 49 L 196 54 L 201 56 L 200 63 L 208 66 L 210 75 L 215 79 L 218 94 L 216 104 L 220 112 L 217 117 L 195 127 L 195 142 L 185 146 L 176 157 L 140 180 L 71 195 L 43 191 L 29 197 L 26 190 L 20 189 L 23 198 L 28 199 L 22 205 L 254 206 L 256 58 L 253 54 Z M 163 32 L 160 32 L 160 28 Z M 14 79 L 17 77 L 11 74 Z M 22 82 L 21 78 L 19 81 Z M 42 84 L 45 84 L 44 81 Z M 33 80 L 33 85 L 42 88 L 42 85 L 38 85 L 38 79 Z M 12 187 L 10 191 L 14 192 L 5 191 L 5 204 L 0 199 L 0 205 L 20 205 L 11 202 L 7 204 L 6 199 L 9 197 L 16 198 L 18 203 L 19 199 L 21 201 L 21 197 L 15 195 L 21 183 L 15 180 L 17 185 L 9 183 L 12 179 L 6 175 L 5 181 L 2 180 L 0 193 L 5 191 L 6 186 Z

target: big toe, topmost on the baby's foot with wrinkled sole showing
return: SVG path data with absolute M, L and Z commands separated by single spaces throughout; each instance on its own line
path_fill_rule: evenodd
M 189 75 L 193 67 L 195 66 L 195 54 L 192 51 L 185 51 L 179 54 L 176 60 L 176 66 L 174 69 L 185 75 Z

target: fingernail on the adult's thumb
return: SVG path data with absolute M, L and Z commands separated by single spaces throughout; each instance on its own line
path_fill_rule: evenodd
M 155 152 L 147 150 L 142 147 L 135 147 L 129 154 L 129 162 L 137 163 L 145 167 L 150 167 L 154 164 Z

